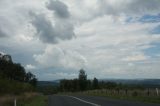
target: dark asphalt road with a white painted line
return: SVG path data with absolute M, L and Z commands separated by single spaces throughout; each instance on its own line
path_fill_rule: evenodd
M 48 102 L 49 106 L 160 106 L 160 104 L 114 100 L 97 96 L 51 95 Z

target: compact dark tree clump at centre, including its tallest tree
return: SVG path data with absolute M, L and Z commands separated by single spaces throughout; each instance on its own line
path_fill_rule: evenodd
M 98 89 L 99 82 L 97 78 L 93 80 L 87 79 L 87 74 L 85 70 L 81 69 L 79 71 L 78 78 L 75 79 L 63 79 L 60 81 L 60 91 L 85 91 L 89 89 Z

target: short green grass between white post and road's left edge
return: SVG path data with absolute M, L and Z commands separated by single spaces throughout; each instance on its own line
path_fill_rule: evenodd
M 17 101 L 17 106 L 47 106 L 47 96 L 37 95 L 29 99 Z

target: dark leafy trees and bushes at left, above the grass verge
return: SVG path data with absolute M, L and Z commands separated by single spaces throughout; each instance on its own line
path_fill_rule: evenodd
M 36 76 L 26 72 L 21 64 L 12 62 L 11 56 L 9 57 L 10 59 L 0 58 L 0 93 L 34 88 L 37 84 Z

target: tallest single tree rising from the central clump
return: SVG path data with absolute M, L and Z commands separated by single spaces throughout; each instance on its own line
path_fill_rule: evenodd
M 79 71 L 79 87 L 82 91 L 87 88 L 87 75 L 83 69 Z

